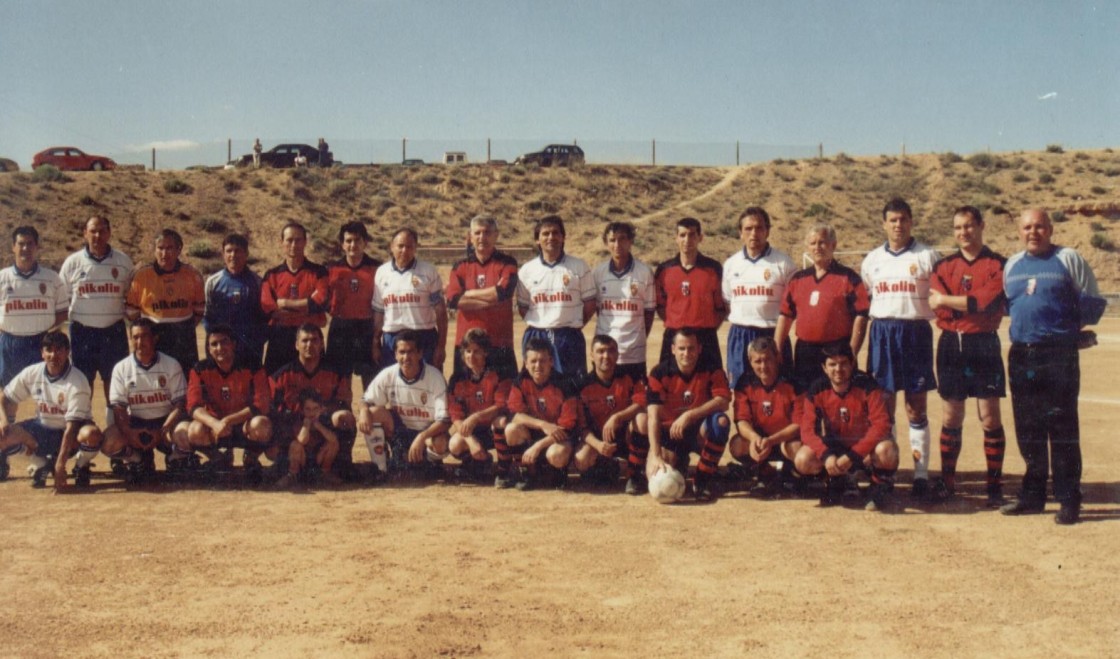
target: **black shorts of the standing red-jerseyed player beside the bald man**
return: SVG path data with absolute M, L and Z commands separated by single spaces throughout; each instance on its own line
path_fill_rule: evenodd
M 942 332 L 937 341 L 937 393 L 945 400 L 1006 397 L 999 335 Z

